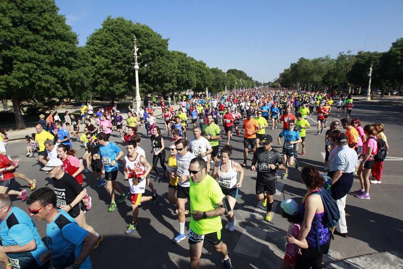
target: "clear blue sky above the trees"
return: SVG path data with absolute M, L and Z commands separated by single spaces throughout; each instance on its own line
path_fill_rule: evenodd
M 149 25 L 169 49 L 272 81 L 299 58 L 386 51 L 403 37 L 403 1 L 56 0 L 80 45 L 106 16 Z

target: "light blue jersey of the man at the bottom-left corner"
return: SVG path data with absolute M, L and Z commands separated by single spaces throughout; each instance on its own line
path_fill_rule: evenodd
M 32 219 L 22 209 L 11 207 L 6 220 L 0 223 L 0 236 L 3 246 L 24 246 L 35 240 L 36 248 L 31 251 L 21 253 L 6 253 L 13 268 L 39 268 L 43 262 L 39 261 L 40 255 L 47 252 L 45 244 L 42 242 Z

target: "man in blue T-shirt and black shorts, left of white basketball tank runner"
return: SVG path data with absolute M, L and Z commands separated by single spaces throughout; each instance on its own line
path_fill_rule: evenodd
M 105 167 L 105 179 L 106 179 L 106 189 L 110 194 L 111 202 L 108 207 L 108 211 L 113 211 L 116 208 L 115 203 L 115 190 L 120 193 L 120 197 L 117 200 L 121 203 L 126 199 L 127 193 L 124 193 L 119 185 L 116 184 L 117 173 L 119 171 L 119 166 L 117 160 L 123 156 L 123 151 L 120 148 L 108 141 L 108 137 L 105 133 L 97 134 L 97 139 L 99 143 L 98 154 L 94 154 L 93 158 L 101 159 L 102 164 Z

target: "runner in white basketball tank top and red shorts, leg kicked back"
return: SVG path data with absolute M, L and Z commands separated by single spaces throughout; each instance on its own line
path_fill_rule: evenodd
M 129 181 L 131 209 L 133 211 L 133 219 L 126 227 L 125 234 L 131 234 L 137 229 L 139 205 L 150 200 L 156 202 L 158 199 L 157 193 L 153 193 L 152 196 L 143 196 L 146 188 L 146 178 L 151 171 L 151 165 L 147 162 L 145 156 L 136 152 L 138 147 L 139 145 L 135 141 L 128 141 L 126 144 L 127 155 L 124 156 L 124 178 Z

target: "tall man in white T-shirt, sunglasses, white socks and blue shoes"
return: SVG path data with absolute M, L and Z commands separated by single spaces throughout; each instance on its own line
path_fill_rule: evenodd
M 187 141 L 179 139 L 175 142 L 176 151 L 176 170 L 175 173 L 179 179 L 178 189 L 176 192 L 176 204 L 178 205 L 178 220 L 179 220 L 179 234 L 175 236 L 172 241 L 179 243 L 185 236 L 185 203 L 189 199 L 189 164 L 190 160 L 195 156 L 187 151 Z

